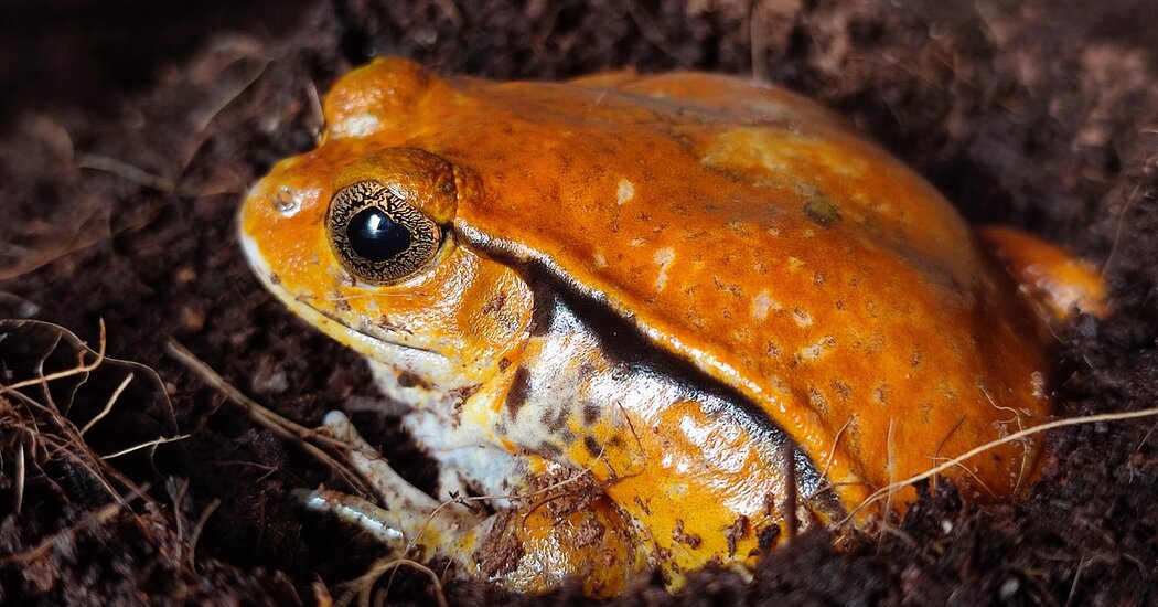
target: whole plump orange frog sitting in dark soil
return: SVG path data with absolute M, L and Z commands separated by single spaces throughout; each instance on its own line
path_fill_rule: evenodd
M 323 112 L 316 148 L 247 195 L 240 241 L 364 356 L 438 482 L 335 411 L 378 500 L 302 500 L 460 577 L 676 590 L 879 526 L 916 498 L 899 481 L 1047 419 L 1049 323 L 1105 312 L 1089 264 L 972 228 L 840 115 L 738 76 L 381 58 Z M 1011 499 L 1041 454 L 1031 436 L 941 477 Z

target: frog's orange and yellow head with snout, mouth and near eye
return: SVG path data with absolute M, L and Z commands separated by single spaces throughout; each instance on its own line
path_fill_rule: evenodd
M 410 148 L 334 139 L 278 163 L 242 205 L 265 286 L 339 342 L 448 390 L 485 382 L 521 346 L 530 291 L 455 235 L 477 180 Z

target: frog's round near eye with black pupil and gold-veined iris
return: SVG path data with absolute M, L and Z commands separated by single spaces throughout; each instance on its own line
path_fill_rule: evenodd
M 375 181 L 338 190 L 325 228 L 342 265 L 368 283 L 394 283 L 426 268 L 442 239 L 438 224 Z

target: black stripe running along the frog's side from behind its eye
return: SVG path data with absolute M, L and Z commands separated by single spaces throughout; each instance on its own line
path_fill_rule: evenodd
M 617 314 L 603 298 L 592 297 L 574 280 L 560 271 L 537 259 L 523 259 L 508 243 L 497 239 L 470 239 L 475 235 L 462 233 L 460 236 L 475 244 L 489 256 L 513 268 L 522 276 L 534 293 L 533 319 L 536 327 L 533 331 L 540 335 L 549 331 L 551 320 L 559 306 L 565 306 L 585 326 L 592 329 L 600 342 L 603 356 L 613 365 L 629 368 L 632 372 L 654 373 L 669 378 L 681 386 L 689 398 L 698 395 L 711 395 L 731 407 L 725 411 L 709 411 L 713 415 L 730 415 L 745 427 L 754 440 L 768 440 L 779 448 L 787 448 L 785 431 L 772 420 L 758 405 L 748 400 L 736 388 L 727 386 L 696 367 L 691 361 L 657 346 L 631 319 Z M 512 392 L 513 388 L 512 388 Z M 702 402 L 702 401 L 701 401 Z M 587 445 L 585 445 L 586 447 Z M 822 478 L 815 465 L 801 451 L 797 451 L 796 475 L 798 487 L 821 487 Z M 844 517 L 844 509 L 833 491 L 819 491 L 809 505 L 831 515 L 834 519 Z M 801 496 L 805 498 L 807 496 Z

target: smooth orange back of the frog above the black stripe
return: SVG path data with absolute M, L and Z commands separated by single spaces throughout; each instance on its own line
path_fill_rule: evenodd
M 812 102 L 704 74 L 492 83 L 409 65 L 362 74 L 408 88 L 374 102 L 359 145 L 474 171 L 459 233 L 544 262 L 738 388 L 850 483 L 845 503 L 1048 412 L 1011 280 L 928 183 Z M 360 95 L 339 87 L 330 115 L 365 119 Z M 967 476 L 1007 495 L 1035 453 L 995 449 Z

